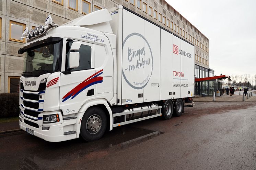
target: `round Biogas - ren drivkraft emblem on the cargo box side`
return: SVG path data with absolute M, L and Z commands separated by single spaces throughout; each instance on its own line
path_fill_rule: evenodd
M 146 38 L 139 33 L 129 34 L 123 42 L 125 81 L 134 89 L 147 86 L 153 72 L 153 55 Z

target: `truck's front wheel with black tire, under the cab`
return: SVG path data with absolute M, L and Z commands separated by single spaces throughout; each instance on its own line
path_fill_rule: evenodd
M 104 111 L 101 108 L 92 107 L 83 115 L 80 134 L 85 141 L 95 141 L 103 136 L 106 127 L 107 117 Z

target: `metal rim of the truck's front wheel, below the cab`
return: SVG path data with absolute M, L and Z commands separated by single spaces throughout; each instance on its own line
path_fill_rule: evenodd
M 102 120 L 99 115 L 92 115 L 86 122 L 86 129 L 90 134 L 96 134 L 101 130 Z

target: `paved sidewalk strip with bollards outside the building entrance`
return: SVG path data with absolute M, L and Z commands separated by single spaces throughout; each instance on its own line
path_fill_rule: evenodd
M 239 95 L 239 92 L 241 92 L 241 95 Z M 230 96 L 223 94 L 220 97 L 215 97 L 216 102 L 242 102 L 243 101 L 243 92 L 244 91 L 236 91 L 235 95 Z M 256 102 L 256 91 L 248 91 L 248 92 L 253 92 L 253 96 L 249 97 L 249 99 L 246 99 L 245 96 L 245 102 Z M 194 102 L 212 102 L 213 101 L 213 96 L 208 96 L 208 97 L 199 97 L 199 98 L 194 98 Z

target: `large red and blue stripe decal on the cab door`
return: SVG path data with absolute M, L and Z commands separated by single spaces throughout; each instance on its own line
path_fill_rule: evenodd
M 70 97 L 71 97 L 71 99 L 74 99 L 75 96 L 77 96 L 83 90 L 85 90 L 86 88 L 88 88 L 88 87 L 90 87 L 94 84 L 102 83 L 103 82 L 103 77 L 100 76 L 101 74 L 103 74 L 103 69 L 101 69 L 97 73 L 91 75 L 90 77 L 86 78 L 83 82 L 78 84 L 75 88 L 73 88 L 65 96 L 63 96 L 62 97 L 62 99 L 63 99 L 62 102 L 65 102 Z

